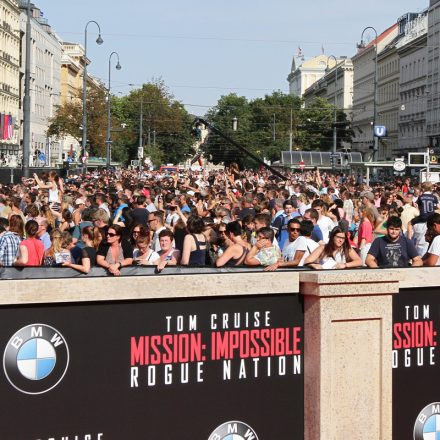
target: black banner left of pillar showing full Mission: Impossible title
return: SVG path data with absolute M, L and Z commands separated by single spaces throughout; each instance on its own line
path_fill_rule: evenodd
M 301 439 L 303 316 L 299 295 L 1 308 L 0 439 Z

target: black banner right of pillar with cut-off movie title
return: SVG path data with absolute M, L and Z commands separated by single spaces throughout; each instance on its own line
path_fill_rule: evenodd
M 440 439 L 440 289 L 401 290 L 393 303 L 393 439 Z

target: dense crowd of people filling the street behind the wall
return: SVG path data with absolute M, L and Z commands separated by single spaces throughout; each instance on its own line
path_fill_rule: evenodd
M 369 187 L 315 169 L 55 172 L 0 185 L 0 265 L 408 267 L 440 265 L 440 185 Z

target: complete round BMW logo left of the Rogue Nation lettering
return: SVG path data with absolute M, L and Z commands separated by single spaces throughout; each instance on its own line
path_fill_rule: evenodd
M 3 355 L 3 369 L 11 385 L 22 393 L 42 394 L 56 387 L 69 365 L 63 335 L 46 324 L 18 330 Z

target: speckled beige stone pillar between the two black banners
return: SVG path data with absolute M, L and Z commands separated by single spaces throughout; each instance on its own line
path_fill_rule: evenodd
M 305 440 L 391 440 L 392 271 L 300 274 Z

